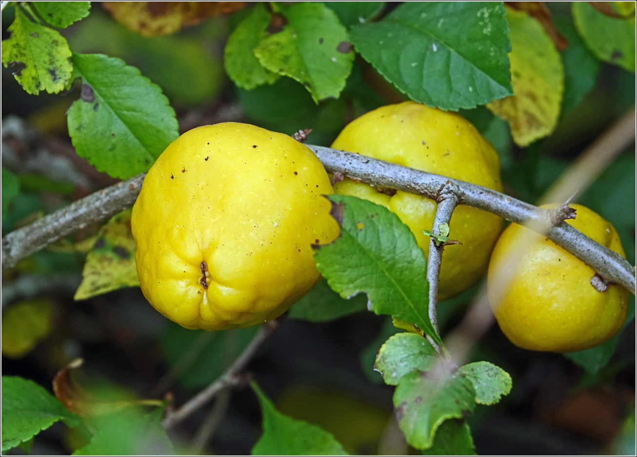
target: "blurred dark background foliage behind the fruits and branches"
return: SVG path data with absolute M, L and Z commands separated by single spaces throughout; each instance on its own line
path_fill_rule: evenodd
M 388 4 L 385 12 L 395 6 Z M 576 46 L 570 4 L 547 6 Z M 338 4 L 334 8 L 339 13 Z M 369 14 L 376 14 L 372 10 L 370 6 Z M 341 97 L 318 104 L 290 78 L 254 90 L 235 87 L 225 75 L 223 50 L 229 32 L 245 14 L 240 10 L 172 35 L 145 38 L 93 3 L 89 17 L 62 34 L 75 52 L 105 53 L 138 67 L 169 97 L 180 131 L 238 120 L 285 134 L 310 128 L 308 143 L 329 145 L 357 116 L 404 99 L 360 57 Z M 341 17 L 343 24 L 350 19 Z M 13 9 L 6 8 L 3 39 L 12 21 Z M 567 83 L 561 118 L 551 136 L 527 148 L 515 146 L 508 123 L 486 108 L 461 111 L 494 144 L 505 192 L 516 198 L 535 203 L 582 150 L 634 105 L 634 73 L 592 62 L 582 52 L 562 54 Z M 3 67 L 3 234 L 115 182 L 73 151 L 65 113 L 78 96 L 77 87 L 57 95 L 29 95 Z M 5 197 L 10 204 L 5 205 Z M 634 144 L 576 201 L 615 226 L 634 264 Z M 86 227 L 4 272 L 3 374 L 49 386 L 61 367 L 82 356 L 85 372 L 131 391 L 132 397 L 157 397 L 171 390 L 182 403 L 217 377 L 256 329 L 216 334 L 185 330 L 156 313 L 138 288 L 74 302 L 86 252 L 99 229 Z M 443 332 L 459 322 L 476 290 L 440 304 Z M 365 312 L 362 297 L 347 303 L 354 314 L 315 321 L 308 300 L 343 309 L 340 297 L 324 284 L 304 300 L 249 367 L 264 391 L 280 411 L 323 426 L 351 453 L 408 451 L 391 418 L 392 388 L 382 385 L 373 370 L 380 344 L 399 330 L 390 320 Z M 634 297 L 631 300 L 634 316 Z M 471 416 L 478 453 L 634 453 L 634 440 L 627 439 L 634 432 L 634 321 L 625 327 L 606 349 L 571 357 L 579 363 L 557 354 L 523 351 L 497 326 L 491 328 L 473 360 L 487 360 L 508 371 L 513 391 L 497 406 L 478 405 Z M 187 434 L 196 433 L 208 414 L 204 409 L 189 418 L 173 439 L 186 442 Z M 260 418 L 252 393 L 234 394 L 206 449 L 249 453 L 259 436 Z M 82 433 L 68 432 L 59 423 L 36 437 L 31 452 L 66 453 L 85 444 Z

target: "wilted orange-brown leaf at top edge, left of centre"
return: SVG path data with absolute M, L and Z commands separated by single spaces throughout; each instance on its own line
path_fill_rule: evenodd
M 242 1 L 120 1 L 103 2 L 104 8 L 132 31 L 143 36 L 168 35 L 222 13 L 233 13 Z

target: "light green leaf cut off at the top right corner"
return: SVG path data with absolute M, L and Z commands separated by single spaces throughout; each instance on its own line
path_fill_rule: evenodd
M 635 71 L 635 16 L 606 16 L 588 2 L 573 2 L 575 27 L 598 59 Z

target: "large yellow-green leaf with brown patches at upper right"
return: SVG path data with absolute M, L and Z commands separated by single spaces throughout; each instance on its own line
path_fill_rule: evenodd
M 555 45 L 540 23 L 524 11 L 506 10 L 512 50 L 513 95 L 494 100 L 487 108 L 511 125 L 513 141 L 528 146 L 550 135 L 557 125 L 564 67 Z

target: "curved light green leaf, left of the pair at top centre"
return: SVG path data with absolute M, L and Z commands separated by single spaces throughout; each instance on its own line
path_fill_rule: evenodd
M 265 69 L 254 55 L 254 48 L 266 32 L 272 16 L 262 3 L 257 3 L 250 15 L 243 19 L 229 36 L 224 50 L 225 71 L 233 82 L 246 90 L 272 84 L 279 75 Z

